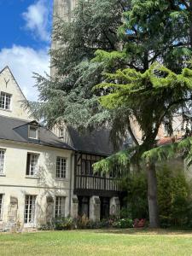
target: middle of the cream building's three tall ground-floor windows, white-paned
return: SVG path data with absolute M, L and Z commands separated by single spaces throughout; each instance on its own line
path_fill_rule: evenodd
M 35 221 L 35 201 L 36 195 L 26 195 L 24 223 L 34 224 Z

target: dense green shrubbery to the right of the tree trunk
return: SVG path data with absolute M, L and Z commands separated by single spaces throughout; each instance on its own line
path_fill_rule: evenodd
M 166 228 L 191 225 L 191 182 L 177 166 L 178 162 L 172 161 L 169 166 L 160 166 L 158 170 L 160 224 Z

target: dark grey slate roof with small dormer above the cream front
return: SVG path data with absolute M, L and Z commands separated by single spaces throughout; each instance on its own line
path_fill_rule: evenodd
M 63 143 L 48 129 L 38 126 L 38 140 L 28 138 L 28 125 L 38 124 L 26 120 L 14 119 L 0 115 L 0 139 L 11 140 L 20 143 L 32 143 L 54 148 L 74 150 L 67 143 Z

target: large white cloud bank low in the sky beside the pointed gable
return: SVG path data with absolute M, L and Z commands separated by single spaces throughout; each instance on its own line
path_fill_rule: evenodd
M 34 88 L 36 83 L 32 78 L 33 72 L 49 73 L 48 49 L 35 50 L 30 47 L 13 45 L 12 48 L 0 50 L 0 70 L 9 66 L 20 88 L 28 100 L 38 99 L 38 91 Z

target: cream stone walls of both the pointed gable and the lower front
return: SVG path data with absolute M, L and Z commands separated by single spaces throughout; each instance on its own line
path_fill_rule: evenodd
M 14 76 L 5 67 L 0 73 L 0 93 L 9 94 L 10 108 L 0 108 L 0 115 L 10 119 L 31 118 L 22 103 L 26 101 Z M 1 124 L 0 124 L 1 125 Z M 1 129 L 1 127 L 0 127 Z M 16 223 L 20 229 L 38 227 L 55 217 L 55 199 L 64 200 L 63 217 L 72 213 L 73 197 L 73 151 L 53 148 L 33 143 L 22 143 L 0 138 L 0 151 L 3 150 L 0 167 L 0 230 L 10 230 Z M 26 175 L 27 154 L 38 155 L 38 172 L 35 176 Z M 56 177 L 56 160 L 66 160 L 66 177 Z M 25 224 L 25 201 L 27 195 L 35 198 L 34 219 Z M 30 198 L 30 197 L 29 197 Z M 30 199 L 32 199 L 30 198 Z M 52 205 L 51 205 L 52 204 Z M 33 207 L 33 206 L 29 206 Z M 52 211 L 50 212 L 50 207 Z M 51 215 L 51 216 L 50 216 Z

